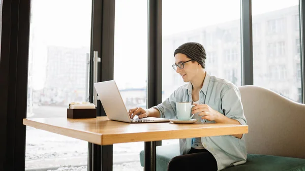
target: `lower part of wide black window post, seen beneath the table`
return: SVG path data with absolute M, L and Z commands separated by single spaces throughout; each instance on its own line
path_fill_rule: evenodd
M 89 166 L 88 163 L 88 168 L 92 168 L 92 171 L 112 171 L 113 146 L 112 145 L 100 146 L 93 144 L 92 163 L 90 164 L 91 165 Z

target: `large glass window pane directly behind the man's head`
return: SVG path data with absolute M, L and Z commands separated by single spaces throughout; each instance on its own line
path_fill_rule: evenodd
M 163 0 L 162 8 L 162 100 L 186 84 L 171 65 L 174 50 L 191 41 L 204 46 L 208 73 L 241 85 L 239 0 Z

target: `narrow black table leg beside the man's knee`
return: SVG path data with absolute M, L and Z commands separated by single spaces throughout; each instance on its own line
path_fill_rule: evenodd
M 156 171 L 156 146 L 157 142 L 144 143 L 144 170 Z

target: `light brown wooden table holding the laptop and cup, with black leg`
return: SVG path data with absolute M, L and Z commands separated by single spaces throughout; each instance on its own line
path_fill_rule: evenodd
M 247 125 L 174 124 L 172 122 L 125 123 L 111 121 L 107 117 L 23 119 L 23 124 L 100 146 L 112 147 L 116 143 L 143 141 L 145 142 L 144 170 L 156 170 L 156 141 L 248 133 Z M 111 161 L 111 163 L 106 163 L 107 166 L 104 166 L 105 163 L 103 163 L 101 170 L 112 170 L 112 155 L 111 159 L 108 156 L 107 158 L 107 161 Z M 90 164 L 92 163 L 88 163 L 88 165 Z

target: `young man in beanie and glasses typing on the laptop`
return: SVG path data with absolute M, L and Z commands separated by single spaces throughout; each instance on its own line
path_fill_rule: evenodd
M 174 51 L 176 70 L 184 82 L 165 101 L 150 109 L 129 110 L 133 118 L 176 118 L 176 102 L 190 101 L 195 119 L 209 123 L 246 125 L 238 88 L 227 80 L 210 76 L 205 71 L 206 53 L 199 43 L 182 44 Z M 220 69 L 221 70 L 221 69 Z M 242 134 L 180 139 L 180 154 L 168 164 L 168 170 L 221 170 L 245 163 L 247 150 Z

